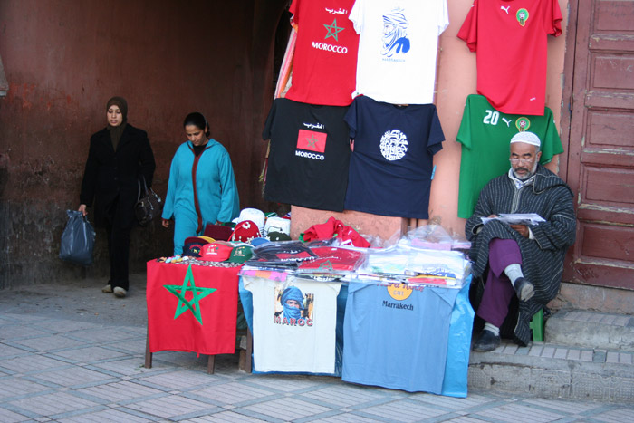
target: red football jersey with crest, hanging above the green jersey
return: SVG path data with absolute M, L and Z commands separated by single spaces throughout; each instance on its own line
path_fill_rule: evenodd
M 557 0 L 474 0 L 458 37 L 477 53 L 478 94 L 504 113 L 543 115 L 549 34 L 562 34 Z

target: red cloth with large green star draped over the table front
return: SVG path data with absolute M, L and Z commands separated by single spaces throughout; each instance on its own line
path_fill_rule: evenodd
M 149 351 L 234 353 L 239 270 L 149 261 Z

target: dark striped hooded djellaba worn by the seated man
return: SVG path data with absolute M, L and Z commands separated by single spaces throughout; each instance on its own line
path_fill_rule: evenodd
M 476 277 L 485 273 L 489 260 L 489 242 L 494 238 L 514 239 L 522 252 L 522 271 L 535 287 L 533 298 L 519 302 L 516 341 L 528 344 L 529 322 L 559 292 L 563 258 L 574 243 L 576 218 L 570 187 L 542 165 L 537 167 L 533 184 L 520 189 L 507 174 L 492 179 L 480 192 L 474 215 L 466 221 L 466 237 L 472 243 L 469 255 Z M 486 225 L 480 217 L 500 213 L 537 213 L 546 222 L 530 226 L 534 240 L 524 238 L 499 220 Z

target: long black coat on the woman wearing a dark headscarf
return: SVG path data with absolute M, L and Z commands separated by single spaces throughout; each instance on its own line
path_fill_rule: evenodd
M 104 128 L 91 136 L 80 203 L 91 207 L 94 201 L 94 219 L 98 226 L 108 221 L 113 223 L 115 216 L 118 225 L 132 226 L 140 175 L 150 187 L 154 168 L 154 154 L 146 131 L 127 124 L 115 151 L 110 131 Z

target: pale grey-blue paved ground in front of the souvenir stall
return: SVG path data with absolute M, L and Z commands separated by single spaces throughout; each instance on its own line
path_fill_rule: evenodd
M 251 375 L 232 355 L 216 359 L 213 375 L 206 357 L 183 352 L 155 353 L 144 369 L 145 336 L 142 325 L 0 312 L 0 421 L 634 421 L 634 407 L 619 404 L 484 389 L 455 399 L 330 377 Z M 558 355 L 533 348 L 523 353 Z M 577 360 L 592 360 L 574 351 Z

